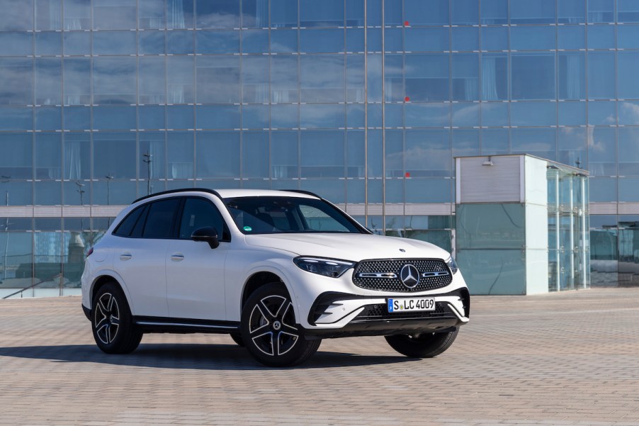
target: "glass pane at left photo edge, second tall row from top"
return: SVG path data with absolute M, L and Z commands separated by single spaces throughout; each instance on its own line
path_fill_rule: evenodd
M 33 60 L 3 58 L 0 62 L 0 105 L 33 104 Z

